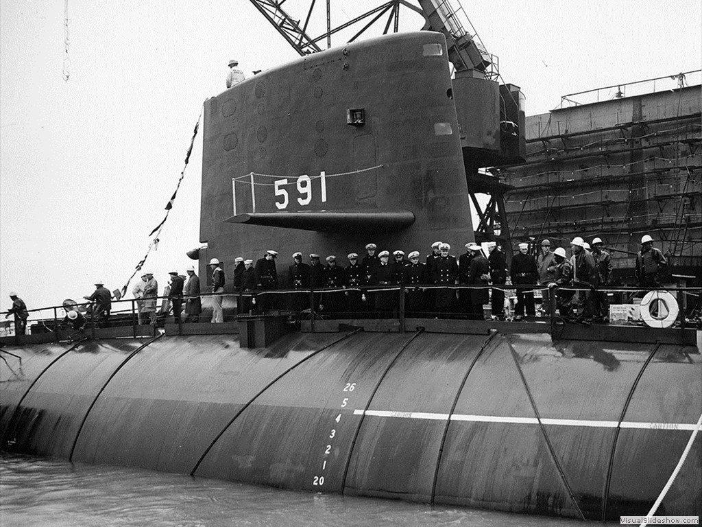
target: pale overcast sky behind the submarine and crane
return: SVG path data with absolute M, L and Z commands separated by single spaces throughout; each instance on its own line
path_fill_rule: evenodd
M 527 115 L 566 93 L 698 70 L 701 4 L 463 1 L 505 81 L 522 87 Z M 358 5 L 334 0 L 335 23 Z M 65 82 L 64 8 L 0 1 L 3 310 L 11 290 L 34 308 L 89 294 L 95 280 L 124 285 L 163 219 L 201 104 L 225 89 L 227 61 L 237 58 L 250 75 L 298 57 L 246 0 L 69 0 Z M 200 175 L 197 141 L 147 261 L 161 287 L 200 245 Z

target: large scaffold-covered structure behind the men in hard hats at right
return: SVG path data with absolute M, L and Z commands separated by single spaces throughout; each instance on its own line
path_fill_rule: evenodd
M 614 249 L 615 278 L 630 282 L 649 234 L 675 273 L 699 278 L 700 73 L 575 93 L 527 117 L 527 161 L 495 170 L 513 186 L 505 195 L 512 238 L 567 247 L 576 236 L 600 237 Z

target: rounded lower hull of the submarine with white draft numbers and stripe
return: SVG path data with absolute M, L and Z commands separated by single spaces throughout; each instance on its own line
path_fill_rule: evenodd
M 695 346 L 538 333 L 8 350 L 4 450 L 595 520 L 648 512 L 702 406 Z M 701 454 L 698 438 L 658 514 L 701 514 Z

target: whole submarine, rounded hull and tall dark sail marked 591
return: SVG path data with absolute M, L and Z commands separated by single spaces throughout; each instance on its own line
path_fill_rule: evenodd
M 441 33 L 393 34 L 208 99 L 195 256 L 208 280 L 223 262 L 230 321 L 5 339 L 2 450 L 593 521 L 701 514 L 694 329 L 234 317 L 237 256 L 475 240 L 470 183 L 519 159 L 501 121 L 524 112 L 448 55 Z

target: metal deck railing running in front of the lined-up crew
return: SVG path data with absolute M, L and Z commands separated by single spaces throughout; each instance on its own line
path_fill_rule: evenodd
M 269 289 L 255 291 L 239 291 L 225 293 L 203 293 L 199 298 L 204 304 L 204 311 L 189 317 L 185 320 L 185 315 L 181 314 L 179 325 L 187 323 L 209 323 L 211 320 L 211 308 L 219 299 L 223 304 L 223 321 L 235 322 L 241 318 L 261 315 L 286 315 L 291 322 L 299 323 L 300 320 L 324 320 L 324 319 L 395 319 L 400 325 L 404 325 L 406 318 L 446 318 L 456 320 L 496 320 L 496 315 L 491 312 L 490 301 L 482 304 L 482 313 L 472 312 L 468 305 L 472 291 L 489 290 L 502 292 L 505 297 L 503 304 L 503 316 L 499 320 L 512 321 L 515 316 L 515 301 L 517 292 L 519 294 L 534 295 L 535 313 L 527 316 L 528 322 L 543 323 L 587 323 L 588 316 L 593 313 L 576 313 L 576 300 L 569 300 L 567 304 L 568 313 L 563 313 L 562 303 L 559 298 L 575 298 L 580 295 L 590 294 L 607 295 L 609 305 L 609 323 L 620 325 L 644 325 L 644 322 L 637 317 L 637 306 L 641 306 L 642 297 L 648 292 L 640 287 L 561 287 L 552 288 L 541 285 L 458 285 L 458 284 L 418 284 L 418 285 L 365 285 L 355 287 L 325 287 L 306 289 Z M 700 287 L 661 287 L 658 289 L 665 291 L 671 296 L 665 296 L 670 303 L 670 298 L 675 300 L 675 310 L 677 315 L 673 323 L 660 325 L 659 327 L 686 327 L 701 324 L 700 315 Z M 546 292 L 550 294 L 546 294 Z M 442 294 L 444 306 L 437 308 L 435 297 Z M 658 295 L 660 296 L 660 295 Z M 611 299 L 609 299 L 611 297 Z M 546 304 L 548 298 L 550 304 Z M 189 297 L 182 297 L 183 308 L 186 308 L 186 301 Z M 93 306 L 91 303 L 78 304 L 77 310 L 86 318 L 84 327 L 79 330 L 72 327 L 70 320 L 67 320 L 67 311 L 64 305 L 48 306 L 44 308 L 30 309 L 27 319 L 27 330 L 29 334 L 53 333 L 55 341 L 67 338 L 72 333 L 75 337 L 95 337 L 95 330 L 101 327 L 131 327 L 133 337 L 139 336 L 140 327 L 163 327 L 166 323 L 177 323 L 169 308 L 168 297 L 151 297 L 148 301 L 161 301 L 161 305 L 156 307 L 156 316 L 147 317 L 150 311 L 143 310 L 140 299 L 121 299 L 112 301 L 110 317 L 105 321 L 97 320 L 92 316 Z M 491 300 L 491 299 L 490 299 Z M 590 301 L 590 300 L 588 300 Z M 656 304 L 658 299 L 654 299 Z M 582 303 L 584 303 L 583 300 Z M 540 305 L 539 305 L 540 304 Z M 115 306 L 117 308 L 115 309 Z M 538 306 L 538 308 L 536 308 Z M 616 308 L 615 308 L 616 306 Z M 622 307 L 623 306 L 623 307 Z M 688 307 L 690 306 L 690 307 Z M 581 306 L 582 307 L 582 306 Z M 649 311 L 657 311 L 656 306 L 644 306 Z M 640 308 L 640 307 L 639 307 Z M 663 306 L 661 313 L 654 313 L 654 320 L 665 321 L 670 316 L 670 306 Z M 48 313 L 47 313 L 48 312 Z M 141 312 L 141 313 L 140 313 Z M 140 317 L 140 314 L 142 315 Z M 616 315 L 616 316 L 615 316 Z M 656 318 L 657 317 L 657 318 Z M 665 324 L 670 322 L 667 320 Z M 4 337 L 13 336 L 12 332 L 6 330 Z

